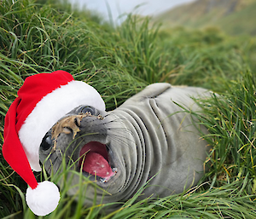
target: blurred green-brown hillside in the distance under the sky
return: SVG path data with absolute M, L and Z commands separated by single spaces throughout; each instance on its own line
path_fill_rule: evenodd
M 256 35 L 255 0 L 197 0 L 155 17 L 164 26 L 217 26 L 232 35 Z

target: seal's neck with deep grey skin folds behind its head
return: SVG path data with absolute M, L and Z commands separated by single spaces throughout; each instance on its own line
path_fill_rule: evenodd
M 122 182 L 119 192 L 124 194 L 123 199 L 129 199 L 148 180 L 151 154 L 147 151 L 146 159 L 146 146 L 151 145 L 151 139 L 145 124 L 136 113 L 116 109 L 109 117 L 113 127 L 108 129 L 108 136 L 114 162 L 119 164 L 119 182 Z

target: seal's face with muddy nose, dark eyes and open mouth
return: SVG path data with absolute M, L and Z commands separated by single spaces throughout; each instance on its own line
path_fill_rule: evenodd
M 117 165 L 108 140 L 109 119 L 95 107 L 79 106 L 61 118 L 44 136 L 40 159 L 47 170 L 59 170 L 63 157 L 67 165 L 99 183 L 117 175 Z M 72 160 L 72 162 L 70 162 Z

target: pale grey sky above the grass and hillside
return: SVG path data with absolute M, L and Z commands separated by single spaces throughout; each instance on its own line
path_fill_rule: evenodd
M 69 0 L 71 3 L 85 5 L 87 9 L 95 10 L 108 20 L 108 6 L 114 21 L 117 21 L 120 14 L 134 13 L 135 7 L 141 5 L 135 12 L 142 15 L 160 14 L 183 3 L 190 3 L 195 0 Z M 108 5 L 108 6 L 107 6 Z

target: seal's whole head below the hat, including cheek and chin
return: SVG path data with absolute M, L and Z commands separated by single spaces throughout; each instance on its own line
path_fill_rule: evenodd
M 49 174 L 55 174 L 64 161 L 65 168 L 82 172 L 114 196 L 124 186 L 125 172 L 129 170 L 123 153 L 131 150 L 130 146 L 122 149 L 125 142 L 124 136 L 119 135 L 120 125 L 111 112 L 87 105 L 75 107 L 44 135 L 39 148 L 41 163 Z M 70 177 L 73 179 L 68 193 L 73 195 L 79 190 L 79 176 Z M 95 195 L 90 188 L 84 194 L 85 204 L 91 204 Z M 102 199 L 103 193 L 99 191 L 97 199 Z M 108 202 L 108 197 L 105 201 Z

